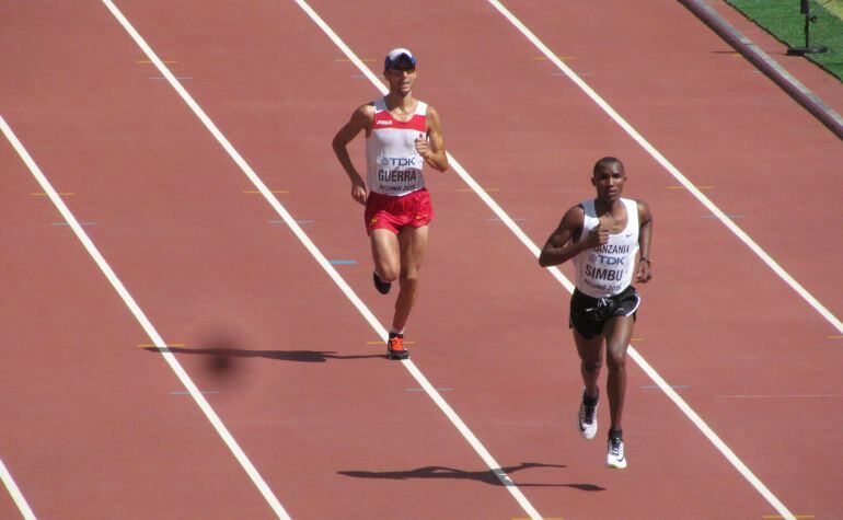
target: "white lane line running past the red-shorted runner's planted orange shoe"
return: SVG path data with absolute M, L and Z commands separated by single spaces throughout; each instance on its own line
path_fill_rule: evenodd
M 170 72 L 170 69 L 166 68 L 166 66 L 155 55 L 152 48 L 140 36 L 140 34 L 135 30 L 135 27 L 132 27 L 132 25 L 129 23 L 126 16 L 124 16 L 123 13 L 116 8 L 116 5 L 114 5 L 114 3 L 111 0 L 102 0 L 102 2 L 106 5 L 106 8 L 108 8 L 108 10 L 117 19 L 120 25 L 123 25 L 123 28 L 125 28 L 126 32 L 129 34 L 129 36 L 131 36 L 131 38 L 135 41 L 138 47 L 140 47 L 141 50 L 143 50 L 143 54 L 147 55 L 147 57 L 152 61 L 155 68 L 158 68 L 161 74 L 164 78 L 166 78 L 168 82 L 173 86 L 176 93 L 178 93 L 178 95 L 187 104 L 187 106 L 193 111 L 196 117 L 199 118 L 199 120 L 205 125 L 208 131 L 217 139 L 220 146 L 222 146 L 222 148 L 226 150 L 229 157 L 231 157 L 231 159 L 236 163 L 240 170 L 246 175 L 246 177 L 249 177 L 249 180 L 257 188 L 261 195 L 263 195 L 266 201 L 273 207 L 273 209 L 275 209 L 275 211 L 281 217 L 281 219 L 284 219 L 287 226 L 290 227 L 290 230 L 292 230 L 296 236 L 301 241 L 301 243 L 310 252 L 313 258 L 315 258 L 319 265 L 322 266 L 325 273 L 327 273 L 331 279 L 334 280 L 337 287 L 339 287 L 339 289 L 343 291 L 346 298 L 348 298 L 348 300 L 355 305 L 358 312 L 360 312 L 360 314 L 366 319 L 366 321 L 371 325 L 371 327 L 374 328 L 378 335 L 385 342 L 386 337 L 389 336 L 389 333 L 383 327 L 383 325 L 381 325 L 380 322 L 378 322 L 378 319 L 374 317 L 374 314 L 372 314 L 372 312 L 366 307 L 366 304 L 351 290 L 348 284 L 346 284 L 346 281 L 339 276 L 336 269 L 334 269 L 334 267 L 331 265 L 327 258 L 325 258 L 322 252 L 319 251 L 319 249 L 310 240 L 310 238 L 304 233 L 304 231 L 296 222 L 292 216 L 287 211 L 287 209 L 281 205 L 281 203 L 278 201 L 275 195 L 273 195 L 272 190 L 266 186 L 266 184 L 264 184 L 261 177 L 257 176 L 254 170 L 252 170 L 252 166 L 250 166 L 249 163 L 246 163 L 245 159 L 243 159 L 240 152 L 238 152 L 236 149 L 234 149 L 234 147 L 231 145 L 231 142 L 229 142 L 229 140 L 226 138 L 226 136 L 222 135 L 219 128 L 217 128 L 217 125 L 213 124 L 213 122 L 210 119 L 210 117 L 208 117 L 208 115 L 199 106 L 199 104 L 196 103 L 193 96 L 190 96 L 190 94 L 184 89 L 184 86 L 182 86 L 182 84 L 178 82 L 175 76 L 173 76 L 173 73 Z M 309 11 L 309 13 L 312 13 L 311 18 L 313 16 L 317 18 L 317 15 L 312 10 L 310 10 L 310 7 L 305 8 L 307 4 L 303 4 L 303 2 L 299 2 L 299 5 L 301 5 L 302 9 L 304 9 L 305 11 Z M 322 23 L 324 24 L 324 22 Z M 324 28 L 327 28 L 327 27 L 325 26 Z M 327 28 L 327 31 L 330 31 L 330 28 Z M 350 54 L 350 50 L 347 54 L 349 55 L 349 57 L 353 56 L 353 54 Z M 358 65 L 360 70 L 365 71 L 363 73 L 367 74 L 367 77 L 370 80 L 378 81 L 377 77 L 372 74 L 371 71 L 369 71 L 369 69 L 367 69 L 366 66 L 362 65 L 362 61 L 360 61 L 356 56 L 354 57 L 353 61 L 355 61 L 355 63 Z M 527 511 L 527 513 L 530 515 L 531 518 L 535 520 L 541 520 L 542 517 L 527 500 L 527 497 L 523 496 L 521 490 L 518 489 L 518 487 L 516 487 L 512 479 L 500 469 L 501 467 L 500 464 L 498 464 L 497 461 L 495 461 L 492 454 L 480 442 L 477 437 L 474 436 L 474 434 L 469 429 L 465 423 L 463 423 L 463 420 L 457 415 L 453 408 L 451 408 L 451 406 L 442 398 L 442 396 L 430 384 L 427 378 L 418 370 L 416 365 L 409 359 L 405 359 L 401 362 L 407 369 L 407 371 L 409 371 L 413 378 L 415 378 L 416 382 L 418 382 L 418 384 L 423 389 L 425 389 L 425 392 L 427 392 L 428 396 L 437 404 L 437 406 L 439 406 L 439 409 L 446 415 L 446 417 L 448 417 L 451 424 L 453 424 L 453 426 L 457 427 L 460 434 L 462 434 L 462 436 L 465 438 L 469 444 L 471 444 L 474 451 L 476 451 L 477 454 L 481 457 L 481 459 L 483 459 L 483 461 L 486 463 L 489 470 L 498 477 L 498 479 L 500 479 L 500 482 L 509 490 L 509 493 L 512 494 L 512 496 L 521 505 L 524 511 Z

